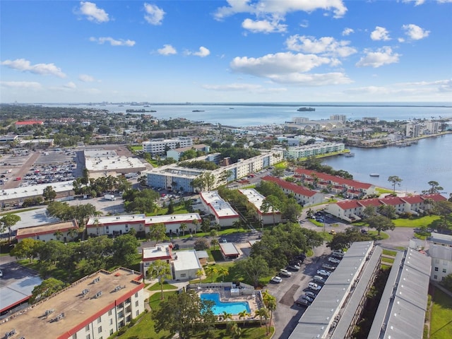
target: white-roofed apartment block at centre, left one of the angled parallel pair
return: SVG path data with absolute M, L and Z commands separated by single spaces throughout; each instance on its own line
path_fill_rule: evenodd
M 232 226 L 234 222 L 240 220 L 239 213 L 223 200 L 218 191 L 199 192 L 199 198 L 204 209 L 214 216 L 215 222 L 220 227 Z

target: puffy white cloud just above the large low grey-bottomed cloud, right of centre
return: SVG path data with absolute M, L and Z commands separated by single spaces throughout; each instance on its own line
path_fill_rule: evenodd
M 321 37 L 316 40 L 314 37 L 305 35 L 292 35 L 288 37 L 285 44 L 287 49 L 296 52 L 322 54 L 325 56 L 348 57 L 355 54 L 357 49 L 348 46 L 350 41 L 337 41 L 333 37 Z

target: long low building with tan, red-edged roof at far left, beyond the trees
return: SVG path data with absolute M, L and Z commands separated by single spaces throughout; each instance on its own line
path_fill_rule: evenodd
M 78 234 L 78 223 L 76 220 L 22 227 L 17 230 L 16 239 L 18 242 L 21 242 L 23 239 L 35 239 L 40 242 L 49 242 L 50 240 L 68 242 L 73 239 L 69 235 L 71 230 L 77 230 Z

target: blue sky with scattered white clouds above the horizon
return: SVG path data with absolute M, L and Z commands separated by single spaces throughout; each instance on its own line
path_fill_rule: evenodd
M 0 1 L 1 102 L 451 102 L 452 0 Z

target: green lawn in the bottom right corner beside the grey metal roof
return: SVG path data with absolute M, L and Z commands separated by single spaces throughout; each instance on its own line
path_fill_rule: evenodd
M 430 339 L 449 339 L 452 335 L 452 298 L 435 289 L 430 321 Z

